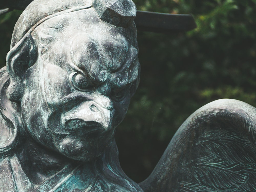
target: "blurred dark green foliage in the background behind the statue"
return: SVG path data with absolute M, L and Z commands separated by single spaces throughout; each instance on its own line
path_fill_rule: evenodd
M 186 33 L 138 31 L 141 81 L 116 131 L 120 163 L 136 182 L 153 170 L 195 110 L 220 98 L 256 106 L 256 0 L 134 0 L 138 10 L 193 14 Z M 20 11 L 0 17 L 0 66 Z

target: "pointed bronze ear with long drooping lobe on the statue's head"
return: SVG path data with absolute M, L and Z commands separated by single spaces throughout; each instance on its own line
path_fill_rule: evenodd
M 9 100 L 18 101 L 24 92 L 26 71 L 37 60 L 37 49 L 34 39 L 27 33 L 8 53 L 6 68 L 10 77 L 10 85 L 6 94 Z

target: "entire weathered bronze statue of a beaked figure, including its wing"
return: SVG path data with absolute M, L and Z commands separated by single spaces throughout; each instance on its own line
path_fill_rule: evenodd
M 0 71 L 0 192 L 255 191 L 256 109 L 214 101 L 136 184 L 114 141 L 140 74 L 131 0 L 35 0 Z

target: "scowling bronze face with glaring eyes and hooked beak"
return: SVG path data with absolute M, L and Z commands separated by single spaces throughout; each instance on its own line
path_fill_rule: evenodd
M 37 29 L 33 37 L 44 40 L 37 41 L 38 61 L 26 72 L 21 103 L 23 126 L 36 141 L 82 161 L 111 144 L 138 77 L 137 49 L 123 29 L 92 13 L 88 26 L 86 14 Z

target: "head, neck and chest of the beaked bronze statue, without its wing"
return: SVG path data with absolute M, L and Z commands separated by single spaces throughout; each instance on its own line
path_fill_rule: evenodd
M 136 13 L 122 5 L 113 12 Z M 24 10 L 0 72 L 1 190 L 143 191 L 114 141 L 139 81 L 134 16 L 114 14 L 130 20 L 113 25 L 89 0 Z

